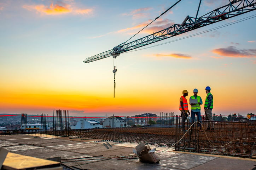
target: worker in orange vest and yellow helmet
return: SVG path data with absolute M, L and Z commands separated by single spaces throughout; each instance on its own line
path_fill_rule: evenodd
M 181 131 L 185 132 L 185 120 L 187 119 L 188 115 L 190 115 L 190 112 L 188 111 L 188 103 L 187 103 L 187 99 L 186 96 L 188 95 L 187 90 L 183 90 L 182 91 L 183 96 L 180 97 L 180 111 L 181 111 L 181 115 L 180 117 L 181 119 Z

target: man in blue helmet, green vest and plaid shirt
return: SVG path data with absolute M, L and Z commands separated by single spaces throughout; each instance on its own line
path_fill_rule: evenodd
M 205 92 L 207 94 L 205 103 L 204 103 L 204 112 L 205 119 L 211 122 L 208 122 L 208 127 L 206 131 L 214 131 L 214 122 L 213 122 L 213 95 L 210 93 L 211 88 L 209 86 L 205 87 Z

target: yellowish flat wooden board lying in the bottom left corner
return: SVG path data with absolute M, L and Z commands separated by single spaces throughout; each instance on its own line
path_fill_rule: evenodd
M 6 170 L 26 170 L 32 168 L 57 168 L 57 166 L 60 166 L 60 162 L 8 152 L 2 168 Z

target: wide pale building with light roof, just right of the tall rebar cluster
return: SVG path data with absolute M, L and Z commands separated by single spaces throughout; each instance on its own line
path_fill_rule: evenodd
M 71 126 L 71 129 L 96 129 L 102 128 L 99 121 L 96 120 L 80 120 L 75 126 Z

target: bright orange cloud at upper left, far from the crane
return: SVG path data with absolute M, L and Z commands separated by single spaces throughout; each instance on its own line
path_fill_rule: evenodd
M 23 8 L 33 11 L 36 10 L 39 13 L 47 14 L 47 15 L 59 15 L 59 14 L 66 14 L 66 13 L 73 13 L 73 14 L 91 14 L 93 9 L 75 9 L 71 7 L 71 5 L 66 4 L 64 2 L 58 1 L 58 4 L 51 4 L 50 6 L 45 5 L 23 5 Z

